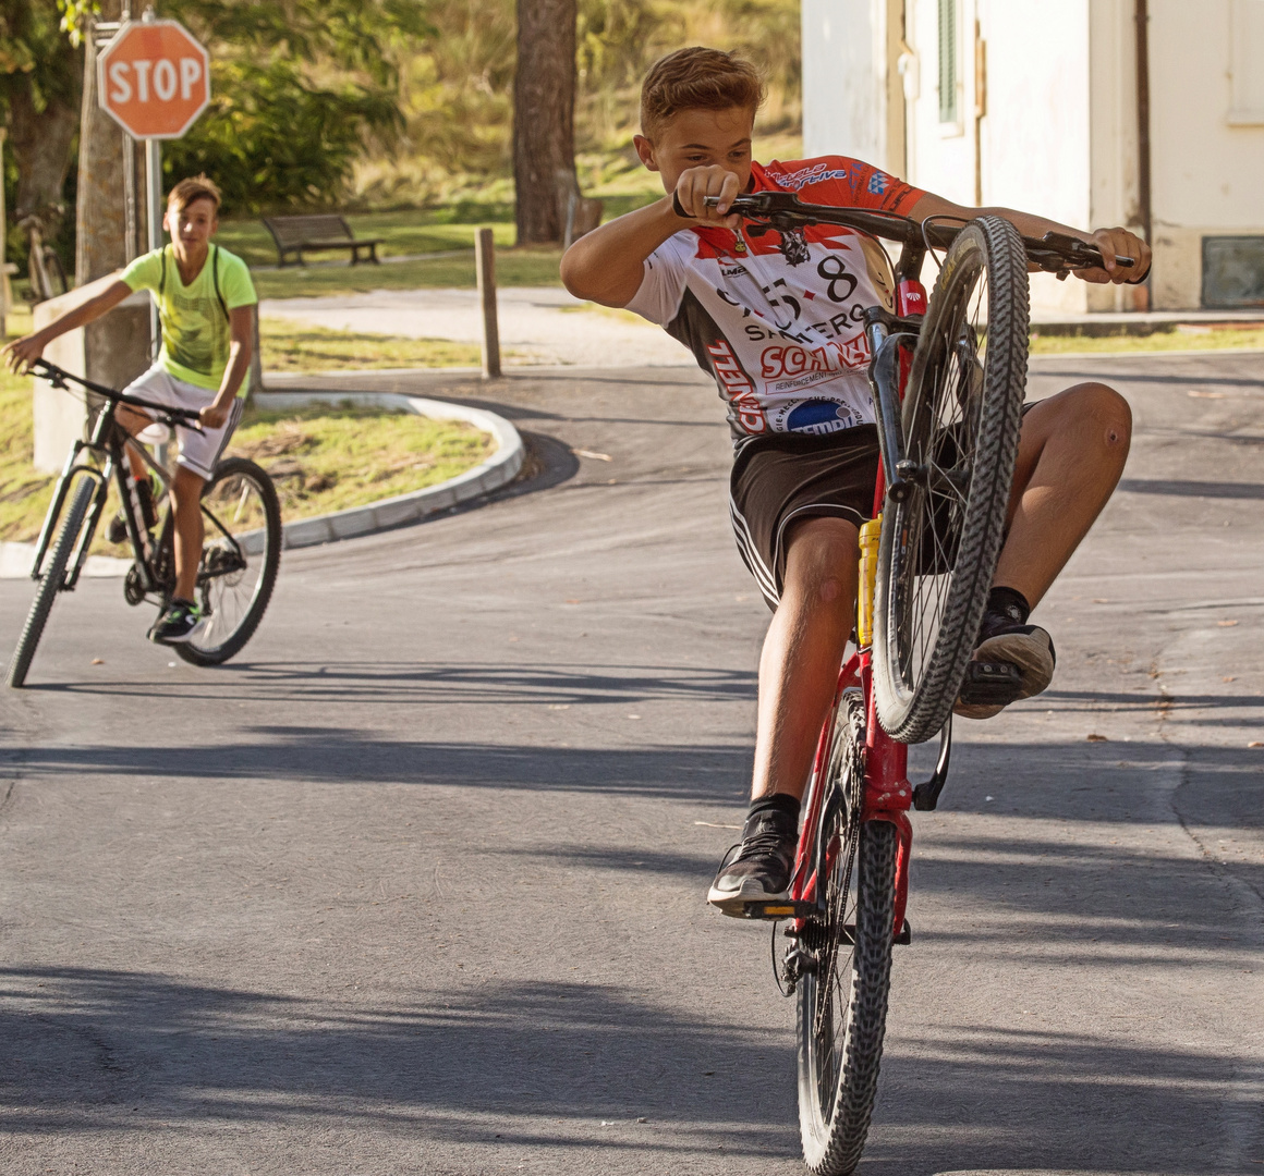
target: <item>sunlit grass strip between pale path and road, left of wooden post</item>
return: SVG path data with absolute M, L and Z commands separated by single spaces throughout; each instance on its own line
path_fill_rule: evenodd
M 260 318 L 264 371 L 334 371 L 367 368 L 477 368 L 478 344 L 332 331 L 288 318 Z

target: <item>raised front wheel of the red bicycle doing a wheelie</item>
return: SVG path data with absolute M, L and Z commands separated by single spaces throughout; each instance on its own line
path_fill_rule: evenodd
M 971 221 L 944 259 L 904 399 L 909 494 L 882 519 L 873 686 L 886 731 L 923 743 L 948 721 L 1005 537 L 1026 384 L 1019 231 Z

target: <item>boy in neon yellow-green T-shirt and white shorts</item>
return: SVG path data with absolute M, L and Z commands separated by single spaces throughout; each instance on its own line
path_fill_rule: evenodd
M 163 217 L 169 245 L 137 258 L 102 293 L 0 352 L 8 355 L 11 370 L 25 369 L 57 336 L 100 318 L 129 294 L 148 289 L 154 296 L 162 351 L 125 393 L 195 411 L 201 419 L 201 431 L 176 428 L 179 457 L 171 486 L 176 591 L 149 630 L 150 640 L 168 645 L 191 640 L 202 623 L 195 600 L 204 538 L 202 486 L 241 417 L 239 393 L 250 370 L 253 342 L 250 308 L 259 301 L 245 261 L 211 243 L 219 227 L 219 206 L 220 191 L 212 181 L 205 176 L 182 179 L 172 188 Z M 153 423 L 145 413 L 120 404 L 118 421 L 135 436 Z M 145 522 L 152 527 L 149 475 L 138 453 L 129 456 Z

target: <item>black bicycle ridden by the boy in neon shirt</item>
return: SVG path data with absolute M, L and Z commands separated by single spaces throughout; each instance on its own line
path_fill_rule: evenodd
M 58 592 L 78 584 L 92 536 L 114 480 L 123 504 L 121 520 L 134 562 L 123 581 L 128 604 L 166 609 L 176 589 L 174 518 L 171 475 L 116 419 L 120 404 L 150 409 L 168 427 L 197 427 L 196 412 L 124 395 L 63 371 L 47 360 L 32 370 L 54 388 L 78 384 L 101 398 L 87 441 L 76 441 L 57 479 L 53 500 L 35 547 L 30 576 L 39 587 L 9 663 L 6 681 L 21 686 Z M 68 383 L 70 381 L 70 383 Z M 128 476 L 128 451 L 142 456 L 155 481 L 153 513 L 147 512 Z M 206 538 L 197 568 L 197 595 L 205 618 L 191 640 L 172 648 L 195 666 L 217 666 L 239 653 L 263 619 L 281 563 L 281 504 L 272 479 L 245 457 L 219 462 L 202 489 Z M 58 525 L 59 524 L 59 525 Z M 56 538 L 53 538 L 56 532 Z

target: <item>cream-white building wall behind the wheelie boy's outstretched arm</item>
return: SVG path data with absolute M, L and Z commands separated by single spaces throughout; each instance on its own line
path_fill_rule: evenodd
M 958 0 L 954 125 L 939 123 L 938 0 L 902 0 L 913 56 L 902 91 L 892 87 L 900 11 L 900 0 L 803 0 L 809 154 L 899 173 L 897 154 L 911 183 L 962 205 L 1139 227 L 1134 0 Z M 1149 11 L 1153 304 L 1193 308 L 1203 236 L 1264 235 L 1264 0 L 1150 0 Z M 1138 297 L 1033 279 L 1044 313 L 1131 309 Z

